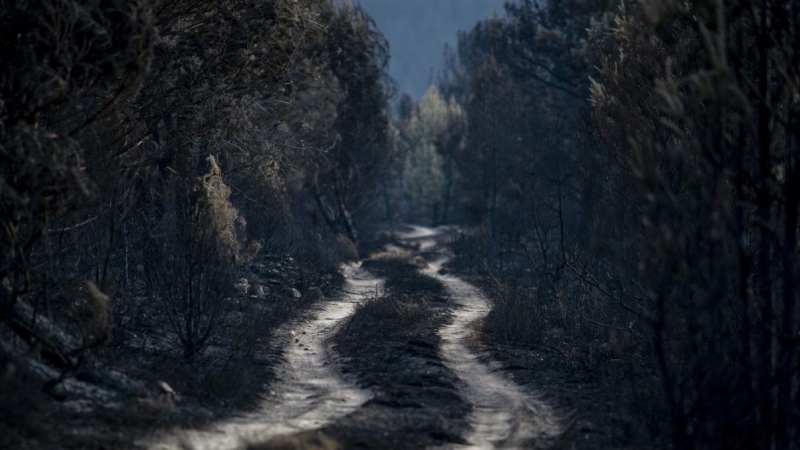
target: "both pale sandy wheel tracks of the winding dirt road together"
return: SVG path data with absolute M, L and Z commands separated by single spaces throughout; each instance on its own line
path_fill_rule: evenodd
M 450 232 L 446 228 L 405 227 L 403 232 L 396 233 L 405 250 L 393 248 L 405 252 L 416 248 L 407 253 L 409 258 L 422 252 L 430 256 L 430 251 Z M 440 274 L 446 261 L 447 257 L 440 255 L 422 270 L 424 275 L 440 282 L 450 296 L 447 308 L 451 320 L 438 331 L 441 341 L 434 357 L 438 354 L 440 364 L 457 377 L 452 389 L 468 404 L 470 412 L 466 424 L 454 427 L 466 430 L 453 440 L 459 443 L 447 444 L 445 448 L 550 447 L 562 432 L 562 421 L 550 406 L 515 384 L 500 370 L 499 364 L 480 350 L 475 329 L 491 310 L 491 303 L 466 281 Z M 339 325 L 353 313 L 354 306 L 382 289 L 382 281 L 360 266 L 348 266 L 345 275 L 340 298 L 320 302 L 308 320 L 282 330 L 286 361 L 259 411 L 201 431 L 173 432 L 147 447 L 234 449 L 326 426 L 330 431 L 330 427 L 335 428 L 342 421 L 352 425 L 362 420 L 359 417 L 364 414 L 360 413 L 367 411 L 362 406 L 372 394 L 341 374 L 339 356 L 330 341 Z M 359 414 L 352 414 L 355 412 Z M 398 414 L 402 413 L 398 410 Z M 373 431 L 382 430 L 370 432 Z

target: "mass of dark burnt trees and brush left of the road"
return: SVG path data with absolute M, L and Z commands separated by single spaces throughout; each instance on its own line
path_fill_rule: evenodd
M 107 367 L 207 368 L 191 391 L 258 359 L 357 258 L 386 58 L 329 1 L 0 3 L 0 382 L 147 396 Z

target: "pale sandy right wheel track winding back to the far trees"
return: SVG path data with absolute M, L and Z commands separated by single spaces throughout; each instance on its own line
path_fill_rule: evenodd
M 419 244 L 422 251 L 433 248 L 450 230 L 414 226 L 410 233 L 398 233 L 407 243 Z M 562 433 L 561 421 L 553 408 L 511 381 L 500 365 L 479 350 L 475 326 L 491 311 L 483 293 L 464 280 L 442 275 L 447 262 L 441 257 L 422 271 L 445 285 L 454 303 L 452 322 L 442 328 L 439 353 L 444 364 L 463 382 L 460 395 L 472 406 L 467 417 L 466 445 L 448 449 L 549 448 Z

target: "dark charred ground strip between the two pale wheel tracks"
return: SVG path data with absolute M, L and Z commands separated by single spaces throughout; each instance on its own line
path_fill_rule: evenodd
M 399 255 L 364 263 L 387 282 L 333 338 L 342 372 L 374 393 L 358 411 L 323 430 L 346 448 L 466 443 L 471 406 L 438 353 L 438 330 L 451 320 L 450 299 L 440 283 L 419 273 L 424 264 Z

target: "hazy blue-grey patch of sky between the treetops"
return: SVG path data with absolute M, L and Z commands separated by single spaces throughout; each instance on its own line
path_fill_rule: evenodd
M 389 41 L 389 72 L 400 93 L 419 99 L 444 61 L 445 44 L 455 47 L 459 30 L 471 29 L 505 0 L 353 0 L 372 16 Z M 434 78 L 435 79 L 435 78 Z

